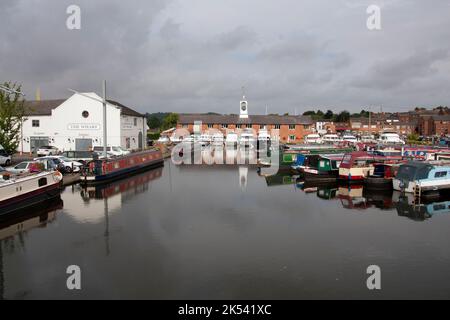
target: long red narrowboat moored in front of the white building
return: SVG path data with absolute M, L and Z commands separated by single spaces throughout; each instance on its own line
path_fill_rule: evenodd
M 105 183 L 162 165 L 164 159 L 160 150 L 146 150 L 117 158 L 94 160 L 84 168 L 81 183 Z

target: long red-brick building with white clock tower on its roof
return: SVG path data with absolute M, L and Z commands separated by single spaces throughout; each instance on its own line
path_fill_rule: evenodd
M 201 122 L 201 128 L 195 127 Z M 272 136 L 279 135 L 280 142 L 303 142 L 305 135 L 314 132 L 314 121 L 309 116 L 280 116 L 280 115 L 249 115 L 248 102 L 240 102 L 240 114 L 180 114 L 177 129 L 187 129 L 190 133 L 208 129 L 240 133 L 244 129 L 253 129 L 256 134 L 260 130 L 267 130 Z

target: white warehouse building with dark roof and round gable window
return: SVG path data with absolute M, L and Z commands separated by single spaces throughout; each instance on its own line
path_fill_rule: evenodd
M 74 94 L 67 100 L 28 101 L 18 151 L 35 152 L 40 146 L 61 151 L 92 150 L 103 146 L 103 104 L 95 93 Z M 107 144 L 138 150 L 146 146 L 145 115 L 107 100 Z

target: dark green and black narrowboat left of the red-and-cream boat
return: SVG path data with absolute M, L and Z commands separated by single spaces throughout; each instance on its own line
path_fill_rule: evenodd
M 342 155 L 319 156 L 314 166 L 306 166 L 303 169 L 305 180 L 336 181 L 342 157 Z

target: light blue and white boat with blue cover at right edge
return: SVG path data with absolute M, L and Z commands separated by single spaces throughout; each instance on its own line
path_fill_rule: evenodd
M 450 190 L 450 162 L 410 161 L 400 166 L 392 181 L 394 190 L 418 196 L 439 196 Z

